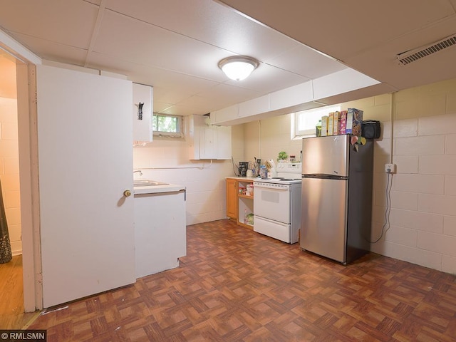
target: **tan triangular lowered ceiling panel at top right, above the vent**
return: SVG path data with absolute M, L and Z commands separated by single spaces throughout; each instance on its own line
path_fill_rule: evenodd
M 341 61 L 455 14 L 448 0 L 223 2 Z

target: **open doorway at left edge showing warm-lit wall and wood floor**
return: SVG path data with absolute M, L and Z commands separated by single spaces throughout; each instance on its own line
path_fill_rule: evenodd
M 0 182 L 13 259 L 0 264 L 0 315 L 8 328 L 21 328 L 24 314 L 22 269 L 21 189 L 16 58 L 0 54 Z

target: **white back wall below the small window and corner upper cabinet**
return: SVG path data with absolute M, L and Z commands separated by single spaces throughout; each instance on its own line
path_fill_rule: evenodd
M 232 127 L 236 162 L 244 157 L 243 132 L 242 125 Z M 189 160 L 188 149 L 185 140 L 154 137 L 150 144 L 133 147 L 133 167 L 142 170 L 142 178 L 187 188 L 187 225 L 226 218 L 225 177 L 234 175 L 232 161 Z

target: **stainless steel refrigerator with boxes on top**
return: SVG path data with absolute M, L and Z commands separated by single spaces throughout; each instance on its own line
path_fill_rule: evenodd
M 305 138 L 302 155 L 301 248 L 350 263 L 370 247 L 373 141 Z

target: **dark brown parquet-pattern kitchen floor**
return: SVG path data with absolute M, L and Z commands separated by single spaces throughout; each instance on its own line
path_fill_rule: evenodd
M 456 341 L 456 276 L 342 266 L 229 220 L 187 227 L 180 267 L 48 309 L 48 341 Z

